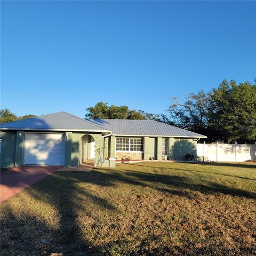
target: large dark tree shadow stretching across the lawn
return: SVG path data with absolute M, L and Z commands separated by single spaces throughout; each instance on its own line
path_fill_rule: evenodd
M 141 165 L 140 165 L 141 166 Z M 150 166 L 147 166 L 150 167 Z M 152 166 L 151 166 L 152 167 Z M 156 167 L 159 169 L 159 167 Z M 184 170 L 183 170 L 184 171 Z M 83 185 L 83 186 L 81 186 Z M 85 186 L 86 185 L 86 186 Z M 91 189 L 91 186 L 96 185 Z M 51 205 L 58 212 L 58 225 L 51 227 L 39 217 L 21 213 L 15 215 L 12 209 L 5 216 L 3 226 L 2 251 L 5 255 L 50 255 L 53 252 L 64 252 L 66 255 L 106 255 L 116 243 L 108 246 L 94 245 L 86 239 L 85 223 L 81 218 L 89 217 L 92 211 L 103 211 L 105 215 L 118 213 L 118 209 L 106 200 L 103 193 L 107 187 L 122 190 L 123 185 L 149 187 L 168 195 L 195 197 L 195 193 L 232 195 L 255 199 L 256 193 L 238 188 L 231 188 L 218 183 L 205 181 L 204 184 L 179 175 L 163 175 L 140 171 L 118 171 L 113 169 L 93 169 L 91 172 L 56 172 L 36 183 L 27 193 L 36 201 Z M 95 189 L 96 193 L 95 193 Z M 101 190 L 102 189 L 102 190 Z M 110 199 L 111 200 L 111 199 Z M 93 205 L 93 208 L 89 205 Z M 33 209 L 33 206 L 29 206 Z M 83 212 L 83 215 L 79 215 Z M 50 218 L 50 217 L 49 217 Z M 97 218 L 97 217 L 94 217 Z M 102 220 L 94 219 L 101 222 Z M 97 224 L 94 224 L 97 225 Z M 32 228 L 31 228 L 32 227 Z M 92 227 L 93 228 L 93 227 Z M 98 227 L 99 228 L 99 227 Z M 49 243 L 43 244 L 43 239 Z M 149 239 L 150 240 L 150 239 Z M 143 241 L 139 246 L 145 250 Z M 126 246 L 129 247 L 129 245 Z M 158 249 L 157 255 L 167 253 Z M 169 251 L 171 252 L 171 251 Z M 130 252 L 132 255 L 132 251 Z M 135 254 L 134 254 L 135 255 Z M 149 255 L 149 254 L 148 254 Z M 163 255 L 163 254 L 162 254 Z M 167 255 L 167 254 L 166 254 Z

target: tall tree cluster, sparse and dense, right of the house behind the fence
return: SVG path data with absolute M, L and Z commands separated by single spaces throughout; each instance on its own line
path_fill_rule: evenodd
M 174 99 L 168 109 L 179 127 L 207 135 L 207 141 L 253 143 L 256 140 L 256 85 L 224 80 L 209 93 Z

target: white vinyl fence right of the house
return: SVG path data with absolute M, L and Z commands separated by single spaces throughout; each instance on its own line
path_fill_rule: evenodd
M 256 160 L 255 144 L 197 144 L 197 156 L 217 162 L 244 162 Z

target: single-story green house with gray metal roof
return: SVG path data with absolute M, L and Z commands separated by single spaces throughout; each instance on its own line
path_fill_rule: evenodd
M 83 119 L 67 112 L 0 126 L 1 166 L 77 166 L 87 159 L 184 159 L 204 135 L 152 120 Z M 102 160 L 101 160 L 102 161 Z

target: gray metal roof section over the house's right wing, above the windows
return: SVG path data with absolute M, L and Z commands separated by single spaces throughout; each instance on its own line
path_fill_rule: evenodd
M 127 120 L 127 119 L 87 119 L 99 124 L 116 135 L 147 135 L 170 136 L 186 138 L 207 138 L 202 134 L 160 123 L 154 120 Z

